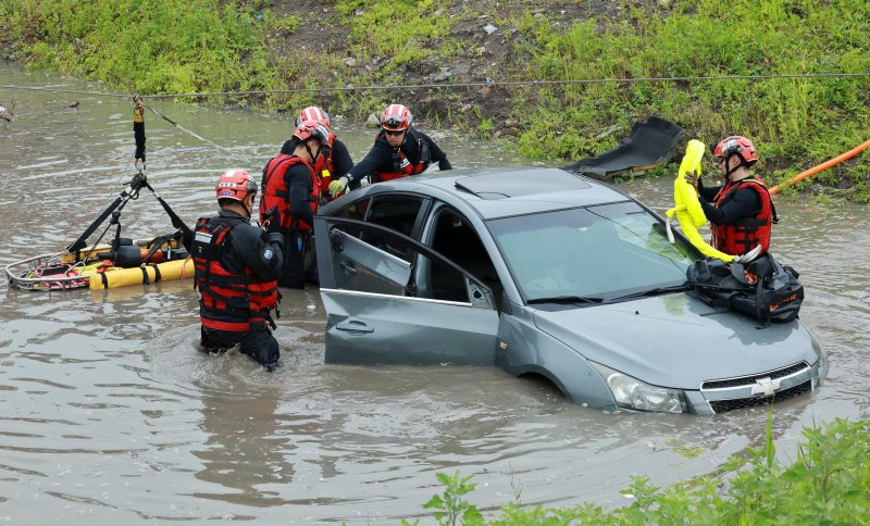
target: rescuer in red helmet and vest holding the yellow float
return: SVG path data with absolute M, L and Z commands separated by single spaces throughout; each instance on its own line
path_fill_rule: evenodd
M 710 245 L 728 254 L 745 254 L 759 245 L 762 252 L 770 249 L 776 211 L 765 181 L 749 171 L 757 161 L 758 151 L 753 142 L 735 135 L 713 148 L 713 162 L 724 185 L 705 188 L 700 177 L 686 177 L 697 188 L 704 215 L 710 222 Z

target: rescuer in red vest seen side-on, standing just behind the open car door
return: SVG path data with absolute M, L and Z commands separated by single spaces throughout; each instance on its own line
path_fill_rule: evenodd
M 296 145 L 293 152 L 270 159 L 263 168 L 260 222 L 266 218 L 269 210 L 277 208 L 284 235 L 284 268 L 278 277 L 279 287 L 304 288 L 303 254 L 321 199 L 314 164 L 328 137 L 328 129 L 320 122 L 302 121 L 293 133 Z

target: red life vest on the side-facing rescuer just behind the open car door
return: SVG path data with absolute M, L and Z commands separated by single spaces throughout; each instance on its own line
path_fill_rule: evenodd
M 281 212 L 281 226 L 288 230 L 302 230 L 310 231 L 311 225 L 303 221 L 298 221 L 293 215 L 290 210 L 290 190 L 287 188 L 287 178 L 285 175 L 294 164 L 303 164 L 311 175 L 311 193 L 308 196 L 308 205 L 311 206 L 311 212 L 318 212 L 320 204 L 320 177 L 314 172 L 311 164 L 304 162 L 301 158 L 282 153 L 269 160 L 263 168 L 263 181 L 261 187 L 263 196 L 260 198 L 260 222 L 262 223 L 263 214 L 271 210 L 272 206 L 277 206 Z

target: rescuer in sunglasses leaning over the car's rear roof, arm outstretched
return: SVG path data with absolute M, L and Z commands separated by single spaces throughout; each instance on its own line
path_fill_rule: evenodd
M 381 114 L 381 132 L 365 158 L 338 180 L 330 184 L 333 193 L 364 177 L 371 183 L 393 180 L 424 172 L 437 162 L 439 170 L 450 170 L 447 154 L 424 133 L 411 129 L 413 115 L 402 104 L 389 104 Z

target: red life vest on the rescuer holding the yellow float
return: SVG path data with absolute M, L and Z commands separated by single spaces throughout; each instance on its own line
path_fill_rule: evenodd
M 719 190 L 713 201 L 717 208 L 721 209 L 744 188 L 751 188 L 758 192 L 761 210 L 756 215 L 738 220 L 731 225 L 710 225 L 711 245 L 726 254 L 745 254 L 758 245 L 761 245 L 765 252 L 770 248 L 770 230 L 772 223 L 775 223 L 776 213 L 773 211 L 768 187 L 761 179 L 755 177 L 730 183 Z

